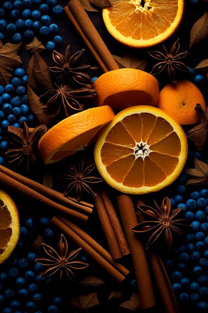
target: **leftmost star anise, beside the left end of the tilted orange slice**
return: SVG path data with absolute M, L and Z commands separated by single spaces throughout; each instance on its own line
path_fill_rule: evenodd
M 40 164 L 38 142 L 47 131 L 45 125 L 28 128 L 24 121 L 22 128 L 8 126 L 6 140 L 9 149 L 5 152 L 8 163 L 12 163 L 21 171 L 28 173 Z

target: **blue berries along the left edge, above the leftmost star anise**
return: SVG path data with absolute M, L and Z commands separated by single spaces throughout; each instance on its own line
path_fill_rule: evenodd
M 5 131 L 9 125 L 21 127 L 24 120 L 31 124 L 34 115 L 31 113 L 26 94 L 27 75 L 21 67 L 14 70 L 11 83 L 0 85 L 0 164 L 7 148 Z

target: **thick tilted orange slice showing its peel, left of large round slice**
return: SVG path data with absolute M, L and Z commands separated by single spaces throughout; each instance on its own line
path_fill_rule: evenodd
M 45 164 L 55 163 L 82 150 L 97 139 L 99 130 L 114 118 L 108 106 L 92 107 L 64 118 L 39 140 L 39 151 Z

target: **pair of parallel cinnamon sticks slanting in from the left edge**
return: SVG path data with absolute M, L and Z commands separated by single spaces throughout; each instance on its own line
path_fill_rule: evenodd
M 63 193 L 50 189 L 2 165 L 0 165 L 0 187 L 17 191 L 30 199 L 41 202 L 46 208 L 54 208 L 81 221 L 88 219 L 93 208 L 90 203 L 65 197 Z

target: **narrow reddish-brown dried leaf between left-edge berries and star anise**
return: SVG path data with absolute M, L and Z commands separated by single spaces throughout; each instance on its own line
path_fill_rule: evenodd
M 27 97 L 30 105 L 30 109 L 34 116 L 36 117 L 37 121 L 40 124 L 48 125 L 51 120 L 52 116 L 46 113 L 41 107 L 44 106 L 44 103 L 40 101 L 38 95 L 32 90 L 31 86 L 27 84 Z

